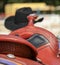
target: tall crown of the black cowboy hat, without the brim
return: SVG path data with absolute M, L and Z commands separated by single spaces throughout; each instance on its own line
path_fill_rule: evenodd
M 33 11 L 30 7 L 18 9 L 15 14 L 15 23 L 20 24 L 20 22 L 23 23 L 28 21 L 27 16 L 32 13 Z

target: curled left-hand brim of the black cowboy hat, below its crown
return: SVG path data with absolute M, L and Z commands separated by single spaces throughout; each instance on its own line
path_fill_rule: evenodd
M 15 24 L 15 16 L 10 16 L 6 18 L 4 26 L 9 30 L 16 30 L 18 28 L 25 27 L 28 24 L 28 22 L 20 22 L 19 24 Z

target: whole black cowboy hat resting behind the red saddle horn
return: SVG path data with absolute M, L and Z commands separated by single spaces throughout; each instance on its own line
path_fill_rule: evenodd
M 10 16 L 5 20 L 5 27 L 9 30 L 16 30 L 28 24 L 27 16 L 35 13 L 30 7 L 23 7 L 16 10 L 15 16 Z M 40 21 L 43 20 L 40 19 Z M 36 22 L 36 21 L 35 21 Z

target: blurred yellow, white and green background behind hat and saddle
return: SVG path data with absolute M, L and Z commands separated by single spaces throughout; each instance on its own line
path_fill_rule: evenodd
M 44 17 L 35 26 L 45 28 L 60 37 L 60 0 L 0 0 L 0 34 L 11 32 L 4 27 L 5 19 L 15 15 L 16 10 L 22 7 L 31 7 L 39 17 Z

